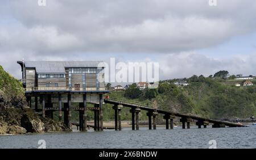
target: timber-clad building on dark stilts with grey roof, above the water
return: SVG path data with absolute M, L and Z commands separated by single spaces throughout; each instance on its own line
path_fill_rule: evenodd
M 87 104 L 94 104 L 94 129 L 103 130 L 104 65 L 101 61 L 17 61 L 28 106 L 72 127 L 72 111 L 79 112 L 79 129 L 87 130 Z M 39 98 L 39 99 L 38 99 Z M 77 105 L 76 105 L 77 104 Z M 39 109 L 42 106 L 42 110 Z M 79 106 L 79 107 L 75 107 Z

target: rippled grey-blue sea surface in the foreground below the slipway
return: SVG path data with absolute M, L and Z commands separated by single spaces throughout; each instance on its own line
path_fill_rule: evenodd
M 0 136 L 0 148 L 209 148 L 215 140 L 217 148 L 256 148 L 256 126 L 246 128 L 175 128 L 156 130 L 140 128 L 122 131 L 72 132 Z

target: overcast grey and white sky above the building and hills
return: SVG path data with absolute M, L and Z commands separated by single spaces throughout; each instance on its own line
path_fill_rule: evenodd
M 17 60 L 159 62 L 160 79 L 256 75 L 256 1 L 3 0 L 0 65 Z

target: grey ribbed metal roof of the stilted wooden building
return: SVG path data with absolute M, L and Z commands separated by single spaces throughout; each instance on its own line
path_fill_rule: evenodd
M 97 68 L 101 62 L 103 61 L 25 61 L 24 64 L 26 68 L 35 68 L 37 73 L 64 74 L 65 68 Z

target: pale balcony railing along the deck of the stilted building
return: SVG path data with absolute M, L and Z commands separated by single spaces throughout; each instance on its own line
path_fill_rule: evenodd
M 75 87 L 32 87 L 26 91 L 106 91 L 104 88 L 75 88 Z

